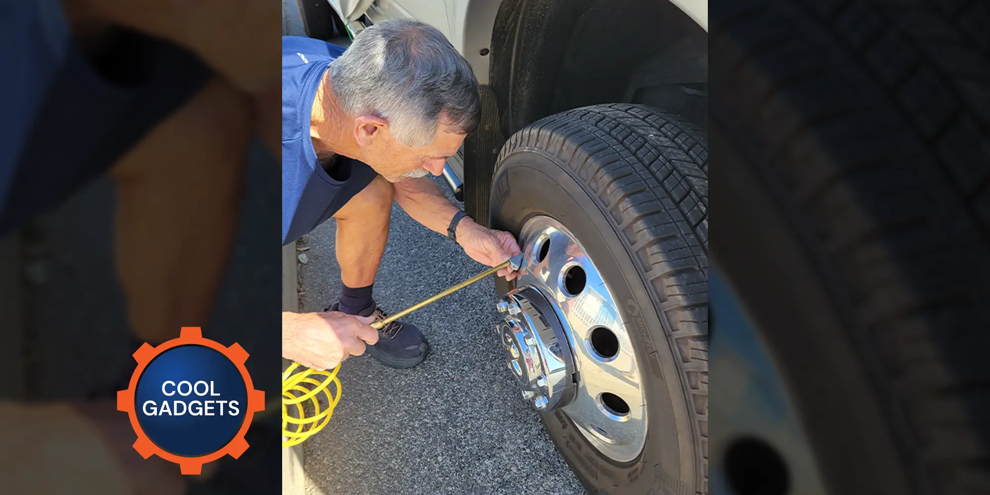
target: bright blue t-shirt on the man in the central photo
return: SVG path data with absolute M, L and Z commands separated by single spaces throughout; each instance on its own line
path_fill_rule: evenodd
M 376 175 L 368 165 L 341 157 L 331 176 L 313 149 L 313 100 L 342 53 L 320 40 L 282 37 L 282 246 L 332 217 Z

